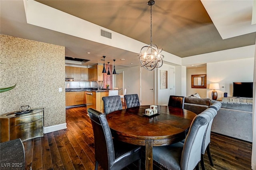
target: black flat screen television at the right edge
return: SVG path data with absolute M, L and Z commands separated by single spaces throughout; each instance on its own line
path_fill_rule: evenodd
M 233 97 L 252 98 L 253 82 L 233 82 Z

